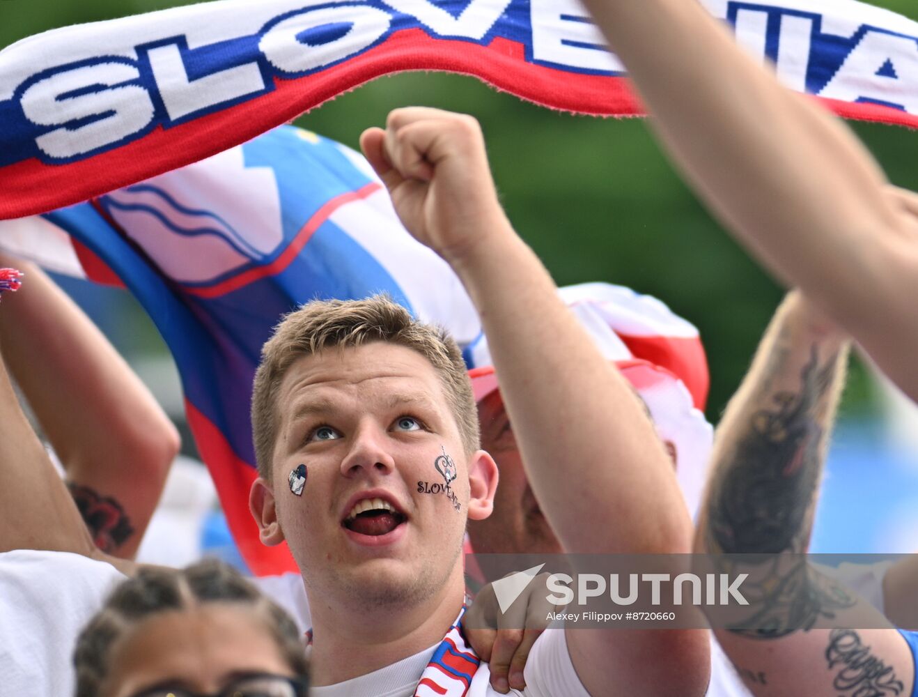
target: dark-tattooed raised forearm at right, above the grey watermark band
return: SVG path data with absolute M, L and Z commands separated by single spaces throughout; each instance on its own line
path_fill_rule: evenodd
M 702 518 L 712 551 L 806 551 L 847 352 L 845 335 L 789 294 L 717 429 Z

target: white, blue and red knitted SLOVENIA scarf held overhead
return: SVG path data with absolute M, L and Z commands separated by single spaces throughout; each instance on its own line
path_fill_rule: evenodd
M 918 23 L 856 0 L 703 0 L 792 89 L 918 126 Z M 223 152 L 383 74 L 476 75 L 548 107 L 640 114 L 577 0 L 217 0 L 0 51 L 0 219 Z

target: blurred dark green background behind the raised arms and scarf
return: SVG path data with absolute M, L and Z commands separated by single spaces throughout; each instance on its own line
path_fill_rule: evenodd
M 49 28 L 183 4 L 0 0 L 0 46 Z M 918 18 L 914 0 L 873 4 Z M 297 123 L 356 147 L 364 128 L 406 105 L 464 111 L 481 121 L 509 217 L 559 284 L 630 286 L 663 299 L 699 327 L 711 364 L 708 414 L 716 422 L 782 290 L 700 208 L 644 120 L 573 116 L 524 103 L 474 78 L 407 73 L 364 85 Z M 918 189 L 918 133 L 854 128 L 894 183 Z M 149 322 L 138 317 L 129 327 L 117 341 L 124 350 L 164 351 Z M 866 415 L 874 407 L 867 372 L 856 364 L 845 411 Z

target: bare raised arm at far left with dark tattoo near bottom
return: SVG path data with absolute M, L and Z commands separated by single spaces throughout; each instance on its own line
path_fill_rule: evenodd
M 0 256 L 3 265 L 17 266 L 28 278 L 4 298 L 0 312 L 6 366 L 61 458 L 95 544 L 131 558 L 178 452 L 178 433 L 118 352 L 47 275 Z

